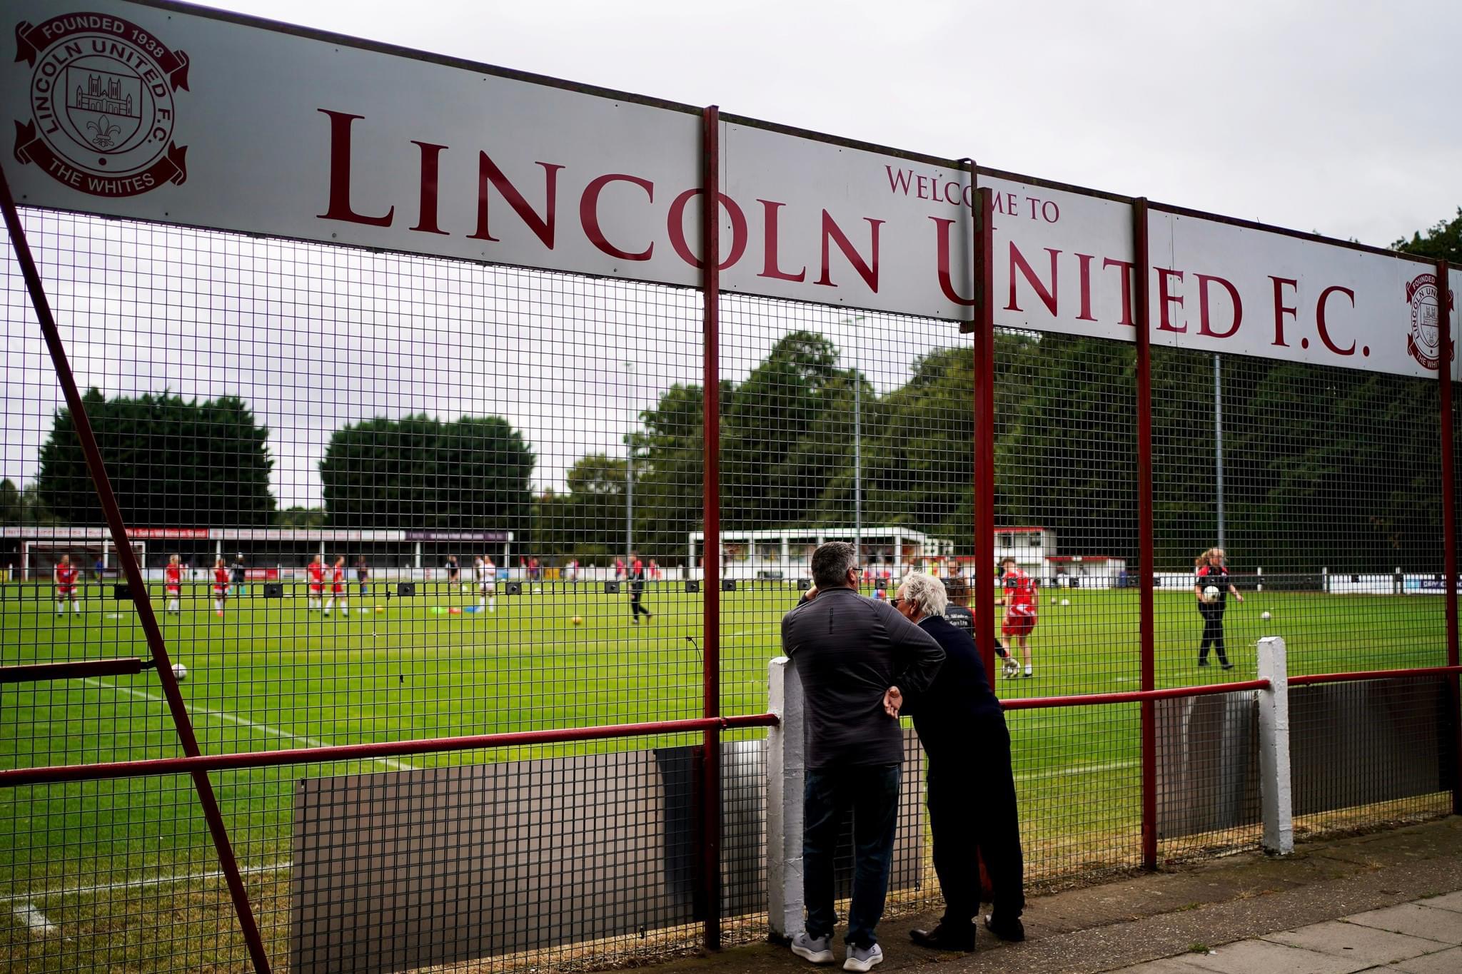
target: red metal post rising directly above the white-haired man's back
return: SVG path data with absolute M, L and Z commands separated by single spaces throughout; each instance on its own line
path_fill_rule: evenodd
M 980 232 L 975 235 L 975 634 L 990 683 L 996 680 L 996 307 L 994 307 L 994 191 L 975 193 Z

